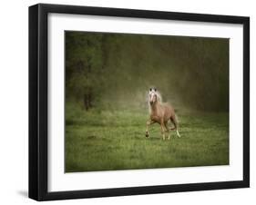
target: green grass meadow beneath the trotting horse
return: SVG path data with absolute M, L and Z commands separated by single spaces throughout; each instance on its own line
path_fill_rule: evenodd
M 229 115 L 179 113 L 181 138 L 162 141 L 147 112 L 66 113 L 66 171 L 113 171 L 229 164 Z

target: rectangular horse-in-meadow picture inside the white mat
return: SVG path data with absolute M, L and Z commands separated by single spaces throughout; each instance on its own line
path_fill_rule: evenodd
M 65 32 L 65 171 L 229 165 L 229 39 Z

